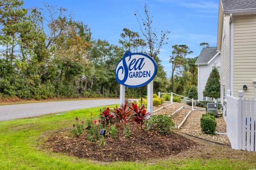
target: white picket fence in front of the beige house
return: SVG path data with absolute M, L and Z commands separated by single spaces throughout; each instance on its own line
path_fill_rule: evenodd
M 233 149 L 256 151 L 255 99 L 244 99 L 243 91 L 238 98 L 226 95 L 227 136 Z

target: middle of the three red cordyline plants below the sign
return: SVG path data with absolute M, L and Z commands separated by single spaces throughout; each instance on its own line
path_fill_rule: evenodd
M 124 125 L 127 122 L 126 120 L 129 119 L 129 117 L 132 114 L 132 110 L 129 107 L 127 107 L 127 103 L 128 102 L 126 101 L 125 104 L 121 104 L 121 107 L 116 107 L 113 110 L 115 118 L 118 120 L 121 127 L 124 127 Z

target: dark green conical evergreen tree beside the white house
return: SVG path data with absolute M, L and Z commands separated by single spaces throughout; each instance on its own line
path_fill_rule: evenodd
M 220 98 L 220 74 L 217 68 L 213 68 L 203 91 L 204 96 L 214 99 Z

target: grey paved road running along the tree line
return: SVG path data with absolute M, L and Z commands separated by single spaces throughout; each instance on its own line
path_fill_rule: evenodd
M 0 120 L 33 117 L 54 112 L 117 104 L 119 99 L 56 101 L 0 106 Z

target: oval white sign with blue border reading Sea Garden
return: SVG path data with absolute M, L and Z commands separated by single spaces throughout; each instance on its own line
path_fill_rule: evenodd
M 154 79 L 156 72 L 156 62 L 151 56 L 130 51 L 124 53 L 115 69 L 117 82 L 126 87 L 144 86 Z

